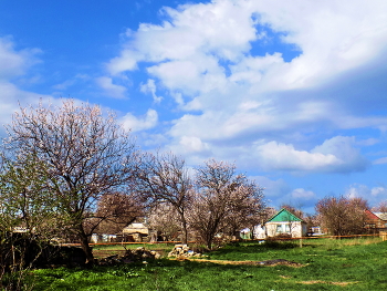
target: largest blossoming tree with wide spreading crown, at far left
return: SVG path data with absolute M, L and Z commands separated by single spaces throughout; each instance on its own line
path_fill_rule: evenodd
M 128 133 L 112 113 L 105 116 L 98 106 L 72 100 L 62 106 L 21 107 L 7 131 L 9 157 L 34 155 L 44 165 L 56 210 L 93 263 L 92 233 L 84 222 L 94 217 L 102 197 L 129 191 L 139 153 Z

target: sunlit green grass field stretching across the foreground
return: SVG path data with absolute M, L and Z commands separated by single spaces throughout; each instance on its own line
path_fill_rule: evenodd
M 302 267 L 161 259 L 60 268 L 34 271 L 35 290 L 387 290 L 387 241 L 378 238 L 304 240 L 302 248 L 297 242 L 241 242 L 207 254 L 206 259 L 222 261 L 285 259 Z

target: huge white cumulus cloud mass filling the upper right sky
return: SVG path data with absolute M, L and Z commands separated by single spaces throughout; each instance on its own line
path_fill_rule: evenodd
M 157 83 L 165 100 L 176 101 L 181 115 L 166 134 L 179 153 L 244 158 L 266 170 L 360 172 L 368 162 L 357 146 L 373 138 L 356 144 L 335 131 L 387 128 L 386 117 L 365 111 L 367 93 L 357 90 L 366 80 L 376 82 L 375 67 L 385 70 L 386 9 L 387 2 L 362 0 L 221 0 L 164 8 L 160 24 L 126 32 L 121 53 L 106 67 L 111 81 L 145 67 L 142 92 L 158 101 Z M 280 44 L 268 52 L 271 38 Z M 297 53 L 286 59 L 290 48 Z M 362 82 L 352 82 L 354 75 Z M 356 107 L 354 98 L 365 106 Z M 373 98 L 385 102 L 381 94 Z M 317 136 L 324 129 L 331 136 Z

